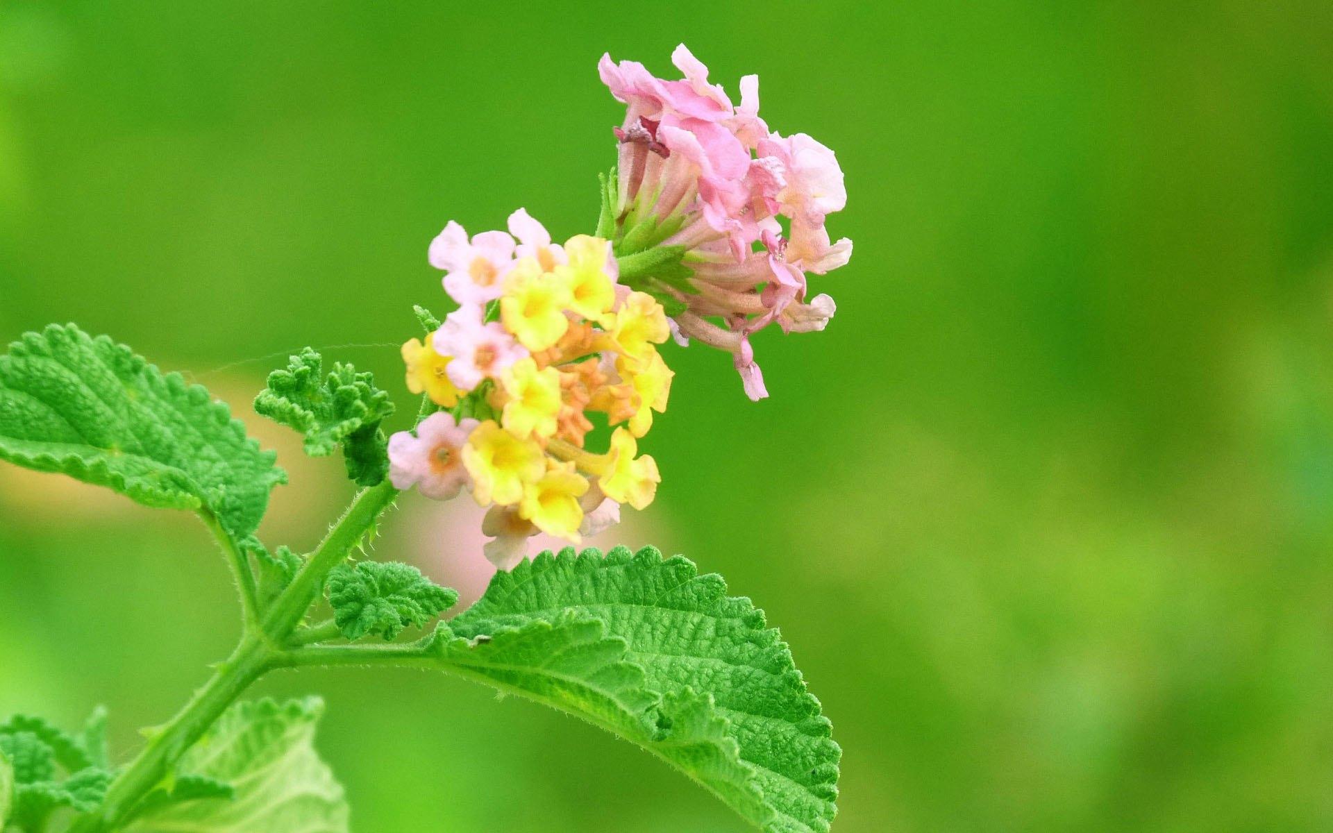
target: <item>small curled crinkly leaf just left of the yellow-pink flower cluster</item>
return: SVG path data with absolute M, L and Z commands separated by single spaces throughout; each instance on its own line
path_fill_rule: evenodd
M 341 445 L 348 477 L 373 486 L 389 470 L 380 422 L 393 413 L 393 403 L 375 387 L 372 373 L 335 364 L 325 377 L 323 365 L 311 348 L 292 356 L 285 371 L 268 375 L 268 388 L 255 399 L 255 411 L 305 434 L 305 453 L 312 457 L 327 457 Z

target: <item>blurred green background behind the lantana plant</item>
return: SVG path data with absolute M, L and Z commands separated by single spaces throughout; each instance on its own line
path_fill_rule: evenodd
M 757 340 L 770 400 L 668 349 L 623 534 L 781 625 L 845 750 L 834 830 L 1333 829 L 1325 1 L 7 0 L 0 340 L 72 320 L 189 371 L 280 449 L 264 534 L 308 546 L 349 490 L 259 424 L 267 371 L 379 344 L 325 352 L 407 404 L 431 237 L 591 231 L 597 57 L 665 73 L 681 40 L 837 151 L 856 255 L 813 281 L 828 331 Z M 380 554 L 476 580 L 427 504 Z M 236 624 L 188 516 L 0 468 L 0 713 L 105 702 L 128 754 Z M 744 829 L 469 684 L 260 689 L 325 694 L 360 832 Z

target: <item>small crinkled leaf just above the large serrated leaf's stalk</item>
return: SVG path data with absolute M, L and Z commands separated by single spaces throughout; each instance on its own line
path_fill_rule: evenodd
M 361 561 L 340 564 L 328 577 L 333 621 L 349 640 L 380 633 L 392 640 L 404 628 L 421 628 L 459 601 L 457 590 L 441 588 L 415 566 Z

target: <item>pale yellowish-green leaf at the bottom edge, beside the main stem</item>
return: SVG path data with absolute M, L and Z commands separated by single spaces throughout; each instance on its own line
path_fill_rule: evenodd
M 177 789 L 229 784 L 232 798 L 183 797 L 144 806 L 124 828 L 136 833 L 347 833 L 343 786 L 315 750 L 319 698 L 240 702 L 187 752 Z M 193 789 L 193 788 L 189 788 Z M 207 788 L 205 788 L 207 792 Z

